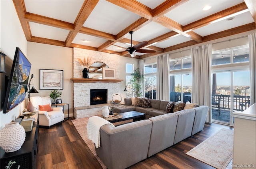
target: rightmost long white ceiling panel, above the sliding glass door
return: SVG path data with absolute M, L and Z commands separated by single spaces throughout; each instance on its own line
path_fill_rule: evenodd
M 233 20 L 222 20 L 220 22 L 198 28 L 194 30 L 194 32 L 196 32 L 200 36 L 207 36 L 245 24 L 250 24 L 252 22 L 254 22 L 254 20 L 252 19 L 250 12 L 246 12 L 244 14 L 234 16 Z

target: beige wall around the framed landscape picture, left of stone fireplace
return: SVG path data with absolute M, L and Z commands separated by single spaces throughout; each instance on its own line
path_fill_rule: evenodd
M 30 74 L 34 74 L 34 88 L 38 93 L 31 93 L 31 96 L 49 96 L 52 90 L 40 90 L 40 69 L 63 70 L 63 90 L 60 99 L 62 103 L 69 104 L 69 116 L 73 116 L 73 82 L 72 78 L 72 48 L 28 42 L 27 58 L 31 62 Z M 32 87 L 32 81 L 31 81 Z M 65 117 L 67 117 L 67 106 Z

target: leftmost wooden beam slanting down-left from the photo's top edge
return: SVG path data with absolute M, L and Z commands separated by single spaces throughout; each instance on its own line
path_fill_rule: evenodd
M 82 8 L 80 9 L 76 20 L 74 22 L 74 31 L 70 31 L 67 38 L 66 38 L 66 46 L 69 46 L 76 35 L 78 34 L 79 30 L 82 28 L 86 19 L 90 16 L 92 10 L 98 4 L 99 0 L 85 0 Z

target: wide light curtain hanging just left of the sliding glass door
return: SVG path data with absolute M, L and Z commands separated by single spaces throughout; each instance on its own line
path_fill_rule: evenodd
M 212 44 L 191 48 L 192 58 L 192 102 L 211 107 L 211 57 Z M 212 111 L 209 109 L 206 123 L 212 123 Z

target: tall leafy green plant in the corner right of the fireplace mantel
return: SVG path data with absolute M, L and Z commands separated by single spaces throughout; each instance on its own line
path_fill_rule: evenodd
M 130 79 L 129 85 L 132 86 L 132 89 L 134 89 L 134 92 L 137 97 L 142 96 L 142 82 L 144 80 L 144 75 L 140 74 L 139 68 L 134 70 L 132 73 L 132 78 Z

